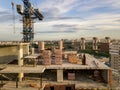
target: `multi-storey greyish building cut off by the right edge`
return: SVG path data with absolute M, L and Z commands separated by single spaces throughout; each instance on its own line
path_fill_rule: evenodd
M 120 85 L 120 42 L 110 45 L 109 53 L 111 68 L 114 71 L 114 79 Z

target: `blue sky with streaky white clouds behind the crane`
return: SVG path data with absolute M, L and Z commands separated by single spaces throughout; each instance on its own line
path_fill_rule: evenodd
M 21 16 L 15 10 L 15 32 L 11 2 L 0 0 L 0 40 L 21 40 Z M 44 15 L 34 25 L 35 40 L 98 37 L 120 39 L 119 0 L 30 0 Z

